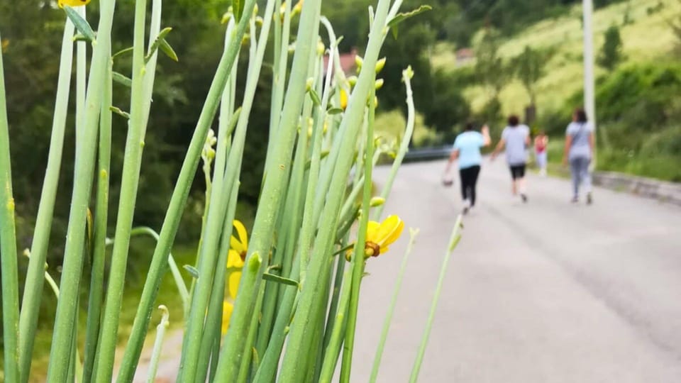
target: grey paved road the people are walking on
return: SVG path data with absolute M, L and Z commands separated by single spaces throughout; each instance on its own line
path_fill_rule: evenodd
M 402 167 L 385 209 L 421 233 L 379 382 L 409 380 L 461 207 L 444 163 Z M 509 178 L 485 162 L 419 381 L 681 382 L 681 209 L 602 189 L 574 205 L 567 181 L 532 175 L 524 205 Z M 368 265 L 353 382 L 368 380 L 406 237 Z

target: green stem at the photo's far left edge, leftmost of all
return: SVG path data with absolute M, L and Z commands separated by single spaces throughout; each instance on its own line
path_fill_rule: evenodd
M 9 123 L 5 94 L 4 67 L 0 52 L 0 265 L 2 267 L 2 328 L 4 379 L 20 379 L 18 358 L 19 287 L 16 260 L 16 224 L 9 152 Z

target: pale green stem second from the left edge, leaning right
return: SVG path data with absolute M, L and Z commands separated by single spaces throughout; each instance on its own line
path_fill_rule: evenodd
M 48 164 L 45 169 L 43 191 L 40 194 L 38 216 L 35 220 L 36 230 L 33 233 L 33 243 L 31 243 L 31 255 L 33 257 L 28 261 L 28 272 L 26 273 L 23 299 L 21 301 L 18 345 L 19 365 L 22 371 L 20 382 L 28 382 L 28 372 L 31 371 L 35 329 L 38 326 L 38 309 L 40 308 L 40 299 L 43 293 L 45 259 L 48 254 L 52 213 L 55 209 L 57 184 L 59 183 L 59 172 L 62 162 L 73 59 L 73 33 L 73 23 L 66 18 L 64 35 L 62 37 L 62 53 L 59 65 L 59 79 L 57 81 L 55 113 L 52 119 Z

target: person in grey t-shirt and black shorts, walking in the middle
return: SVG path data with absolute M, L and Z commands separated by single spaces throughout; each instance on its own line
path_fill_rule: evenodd
M 523 202 L 527 202 L 525 170 L 527 165 L 526 149 L 530 145 L 530 128 L 519 122 L 518 116 L 511 115 L 509 125 L 502 132 L 502 139 L 492 152 L 494 160 L 504 147 L 506 148 L 506 162 L 511 170 L 511 191 L 516 196 L 520 194 Z

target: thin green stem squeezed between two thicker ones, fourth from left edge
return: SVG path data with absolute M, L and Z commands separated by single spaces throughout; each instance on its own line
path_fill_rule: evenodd
M 94 359 L 99 343 L 99 325 L 101 320 L 101 302 L 104 292 L 104 261 L 106 259 L 106 229 L 109 219 L 109 170 L 111 167 L 111 111 L 113 101 L 112 66 L 106 71 L 106 89 L 101 100 L 99 116 L 99 177 L 97 178 L 96 209 L 94 215 L 94 246 L 92 254 L 92 270 L 90 272 L 90 295 L 87 304 L 87 320 L 85 330 L 85 350 L 82 382 L 92 379 Z

